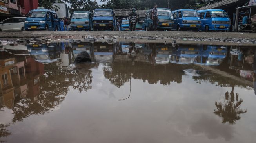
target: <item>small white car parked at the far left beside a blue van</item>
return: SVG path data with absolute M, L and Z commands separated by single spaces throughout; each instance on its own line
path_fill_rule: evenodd
M 0 31 L 25 31 L 25 17 L 7 18 L 0 22 Z

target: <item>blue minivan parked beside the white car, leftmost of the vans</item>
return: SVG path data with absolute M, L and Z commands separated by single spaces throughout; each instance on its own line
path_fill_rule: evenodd
M 55 11 L 38 7 L 29 11 L 25 20 L 26 30 L 56 30 L 60 29 L 60 23 Z

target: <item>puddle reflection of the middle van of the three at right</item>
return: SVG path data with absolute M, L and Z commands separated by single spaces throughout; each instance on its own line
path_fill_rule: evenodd
M 194 63 L 200 52 L 200 48 L 195 45 L 180 45 L 178 49 L 172 51 L 170 63 L 191 64 Z

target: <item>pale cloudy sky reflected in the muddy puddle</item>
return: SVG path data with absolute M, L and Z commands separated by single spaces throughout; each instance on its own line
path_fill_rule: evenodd
M 231 91 L 231 87 L 196 84 L 191 75 L 183 76 L 181 84 L 171 82 L 169 86 L 131 79 L 131 97 L 118 101 L 129 95 L 129 82 L 116 88 L 105 79 L 102 68 L 100 65 L 93 69 L 92 89 L 79 93 L 71 88 L 59 110 L 11 125 L 12 135 L 7 140 L 37 143 L 255 141 L 253 90 L 234 88 L 244 100 L 241 108 L 246 108 L 247 113 L 241 114 L 235 125 L 223 125 L 221 118 L 213 113 L 214 102 Z

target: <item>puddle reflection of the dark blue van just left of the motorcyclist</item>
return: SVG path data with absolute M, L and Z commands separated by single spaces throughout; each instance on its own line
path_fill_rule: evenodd
M 94 58 L 96 62 L 109 62 L 113 61 L 113 44 L 96 42 L 93 44 Z

